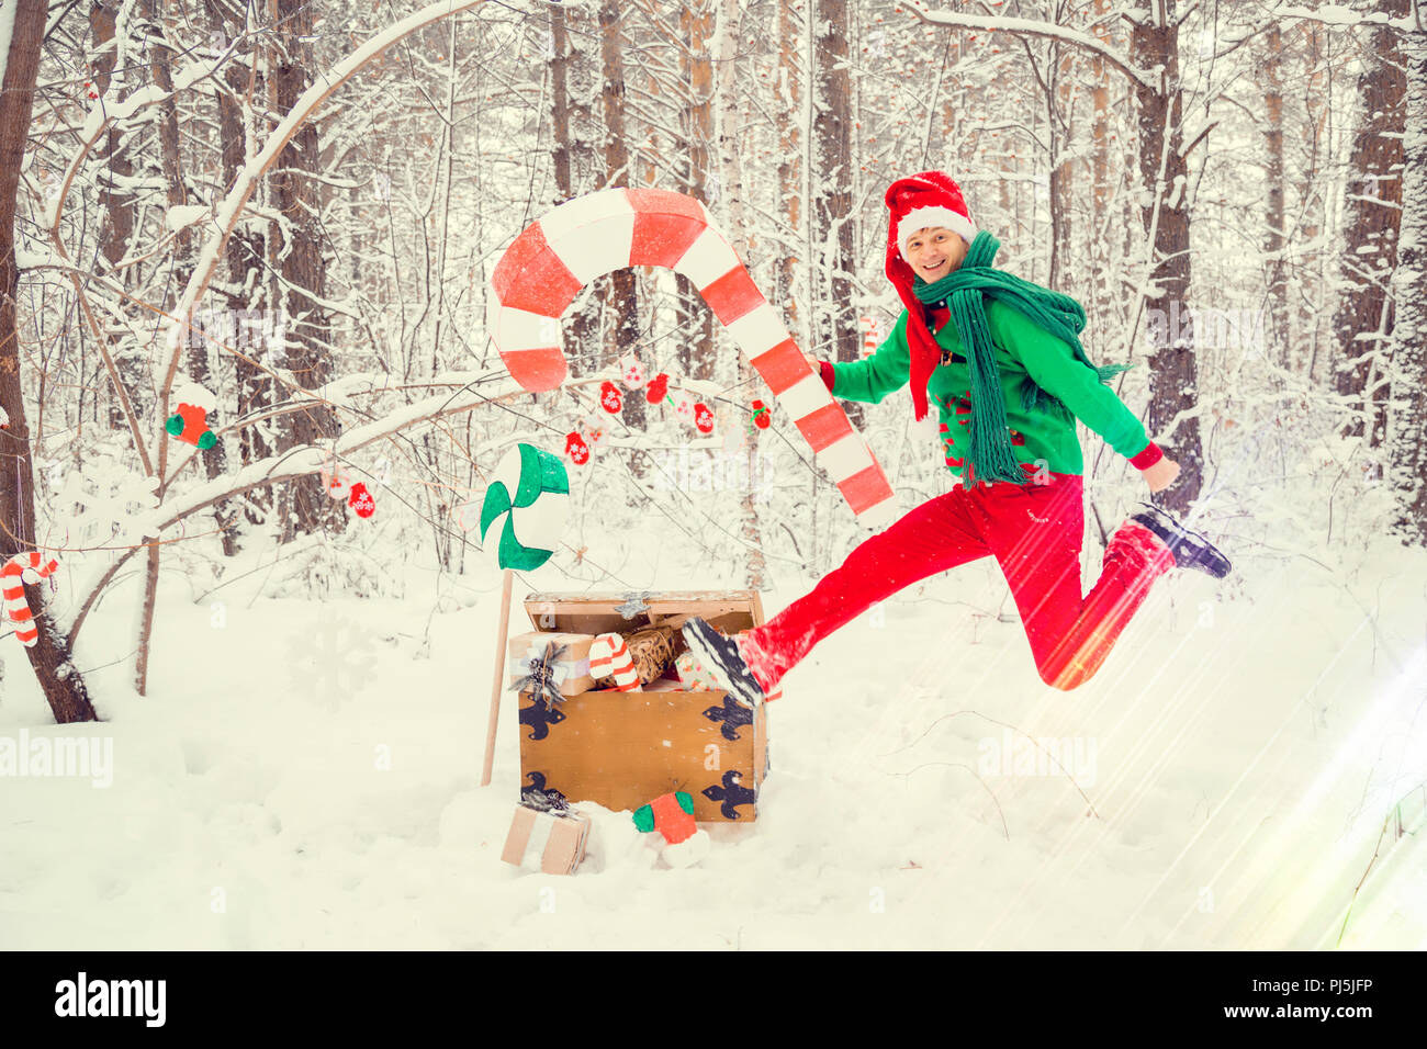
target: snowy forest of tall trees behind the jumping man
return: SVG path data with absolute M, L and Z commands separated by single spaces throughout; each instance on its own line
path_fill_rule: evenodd
M 1346 649 L 1371 655 L 1331 671 L 1336 695 L 1367 709 L 1381 675 L 1420 704 L 1424 17 L 1417 0 L 3 0 L 0 559 L 59 562 L 23 589 L 37 642 L 0 639 L 6 724 L 133 711 L 157 731 L 146 702 L 217 679 L 264 704 L 321 691 L 323 659 L 345 665 L 338 692 L 395 668 L 390 701 L 401 667 L 445 658 L 430 688 L 472 706 L 477 754 L 491 668 L 450 659 L 492 647 L 499 574 L 477 521 L 519 441 L 562 454 L 599 431 L 568 465 L 571 520 L 531 588 L 796 597 L 863 529 L 699 291 L 652 265 L 591 280 L 561 323 L 568 380 L 532 394 L 488 331 L 492 270 L 564 201 L 674 190 L 702 201 L 801 350 L 858 361 L 902 310 L 883 193 L 932 168 L 1002 241 L 997 267 L 1076 298 L 1096 364 L 1132 365 L 1112 387 L 1183 470 L 1157 501 L 1236 559 L 1164 605 L 1184 629 L 1219 617 L 1213 649 L 1176 638 L 1169 676 L 1271 634 L 1293 642 L 1234 672 L 1239 702 L 1311 694 L 1309 664 L 1327 675 Z M 629 353 L 706 404 L 712 432 L 629 391 L 602 411 Z M 751 425 L 765 402 L 771 425 Z M 180 440 L 180 404 L 213 438 Z M 946 490 L 905 394 L 845 407 L 902 505 Z M 1097 564 L 1150 497 L 1080 434 Z M 375 512 L 327 497 L 338 467 Z M 1015 615 L 985 581 L 908 597 L 965 615 L 956 645 Z M 1300 629 L 1296 601 L 1351 617 Z M 324 625 L 323 608 L 342 611 Z M 267 625 L 244 634 L 244 615 Z M 882 644 L 903 641 L 888 658 L 909 672 L 945 644 Z M 313 658 L 308 678 L 264 678 Z M 1123 659 L 1153 678 L 1153 658 Z M 1316 741 L 1361 725 L 1324 731 L 1337 711 L 1313 695 Z M 314 716 L 350 712 L 332 702 Z M 421 718 L 440 734 L 435 709 Z M 190 772 L 214 746 L 184 744 Z M 1374 841 L 1427 782 L 1414 754 L 1373 791 L 1354 781 L 1357 804 L 1381 802 L 1363 805 Z M 221 942 L 273 942 L 260 928 Z M 1214 935 L 1199 942 L 1249 942 Z M 1294 935 L 1269 942 L 1309 942 Z

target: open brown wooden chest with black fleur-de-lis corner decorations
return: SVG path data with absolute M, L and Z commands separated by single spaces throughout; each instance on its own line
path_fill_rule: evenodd
M 635 612 L 639 604 L 645 609 Z M 733 634 L 761 625 L 752 591 L 648 594 L 532 594 L 531 622 L 558 631 L 632 631 L 701 615 Z M 629 615 L 626 615 L 629 614 Z M 638 809 L 671 791 L 694 796 L 695 819 L 749 822 L 768 769 L 768 715 L 722 689 L 688 691 L 661 678 L 644 691 L 586 691 L 558 705 L 519 698 L 521 786 L 569 802 Z

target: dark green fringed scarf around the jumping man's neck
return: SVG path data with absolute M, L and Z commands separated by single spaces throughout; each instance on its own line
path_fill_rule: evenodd
M 972 374 L 972 422 L 970 422 L 970 477 L 977 481 L 1012 481 L 1025 484 L 1026 475 L 1010 450 L 1010 431 L 1006 424 L 1006 405 L 1000 394 L 1000 368 L 996 367 L 996 350 L 992 345 L 990 327 L 986 323 L 986 297 L 999 298 L 1023 313 L 1035 324 L 1052 335 L 1063 338 L 1075 350 L 1076 360 L 1104 382 L 1112 375 L 1124 371 L 1127 364 L 1096 367 L 1080 345 L 1085 330 L 1085 307 L 1070 295 L 1043 288 L 1022 280 L 990 263 L 1000 248 L 1000 241 L 982 230 L 970 243 L 966 258 L 950 274 L 928 284 L 916 277 L 912 291 L 919 303 L 933 304 L 946 300 L 966 350 Z M 1035 382 L 1027 384 L 1022 408 L 1027 411 L 1050 410 L 1073 418 L 1070 410 L 1057 397 L 1042 390 Z

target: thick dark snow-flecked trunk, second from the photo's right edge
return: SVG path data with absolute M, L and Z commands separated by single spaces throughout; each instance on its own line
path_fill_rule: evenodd
M 1384 0 L 1391 17 L 1407 14 L 1408 0 Z M 1384 351 L 1393 334 L 1393 301 L 1388 281 L 1397 268 L 1397 234 L 1403 208 L 1404 96 L 1400 34 L 1387 26 L 1373 30 L 1363 56 L 1357 90 L 1363 116 L 1353 138 L 1347 206 L 1343 216 L 1343 297 L 1333 315 L 1333 341 L 1339 365 L 1337 392 L 1350 401 L 1353 415 L 1344 437 L 1366 437 L 1368 448 L 1383 444 L 1387 425 L 1387 375 Z

